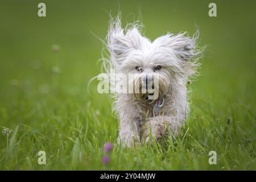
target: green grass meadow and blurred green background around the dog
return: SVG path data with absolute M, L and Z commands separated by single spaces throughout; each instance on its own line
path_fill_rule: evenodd
M 0 169 L 256 169 L 255 2 L 216 1 L 217 18 L 210 18 L 210 1 L 141 1 L 149 38 L 192 34 L 197 24 L 200 46 L 208 47 L 201 76 L 189 85 L 191 114 L 179 137 L 131 149 L 116 145 L 118 119 L 97 81 L 87 92 L 100 73 L 102 48 L 91 31 L 104 39 L 106 11 L 116 14 L 118 3 L 44 1 L 47 17 L 38 18 L 39 2 L 0 3 L 0 127 L 13 130 L 8 148 L 0 136 Z M 138 16 L 135 1 L 120 8 L 124 23 Z M 108 165 L 106 142 L 115 144 Z M 45 166 L 38 164 L 40 150 Z M 216 165 L 209 165 L 209 151 L 217 152 Z

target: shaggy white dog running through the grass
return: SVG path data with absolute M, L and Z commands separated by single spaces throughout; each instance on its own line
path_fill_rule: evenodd
M 197 33 L 167 34 L 151 42 L 142 35 L 138 23 L 121 27 L 120 16 L 110 21 L 107 36 L 110 67 L 115 73 L 135 75 L 135 88 L 150 84 L 158 74 L 158 96 L 146 93 L 117 93 L 113 110 L 120 118 L 119 143 L 128 147 L 161 139 L 167 127 L 176 136 L 188 112 L 188 77 L 195 77 L 202 49 L 197 49 Z M 141 81 L 135 81 L 138 80 Z M 130 85 L 129 85 L 130 86 Z M 154 93 L 153 93 L 154 94 Z

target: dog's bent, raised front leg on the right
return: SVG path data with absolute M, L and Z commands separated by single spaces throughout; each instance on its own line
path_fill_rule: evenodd
M 181 128 L 181 123 L 177 122 L 176 118 L 159 115 L 157 117 L 148 118 L 144 125 L 144 132 L 142 135 L 143 143 L 152 142 L 154 138 L 160 140 L 162 135 L 168 134 L 167 127 L 176 136 Z

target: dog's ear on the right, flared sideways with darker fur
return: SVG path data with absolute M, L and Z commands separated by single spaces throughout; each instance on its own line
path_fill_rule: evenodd
M 197 60 L 200 59 L 203 51 L 203 48 L 197 48 L 198 38 L 198 31 L 192 38 L 187 36 L 187 33 L 167 34 L 156 39 L 154 43 L 158 44 L 158 47 L 168 49 L 170 53 L 175 55 L 180 72 L 186 76 L 191 76 L 200 65 Z

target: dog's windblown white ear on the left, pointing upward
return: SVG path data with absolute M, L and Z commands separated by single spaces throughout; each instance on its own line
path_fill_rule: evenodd
M 133 50 L 141 49 L 143 36 L 136 25 L 125 30 L 121 27 L 120 19 L 110 24 L 108 32 L 108 48 L 114 64 L 121 65 L 127 55 Z

